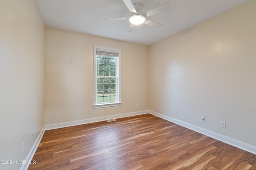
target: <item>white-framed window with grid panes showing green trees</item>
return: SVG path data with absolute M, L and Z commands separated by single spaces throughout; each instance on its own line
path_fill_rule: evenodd
M 121 105 L 121 49 L 94 45 L 93 107 Z

